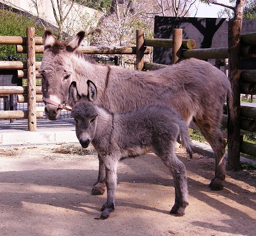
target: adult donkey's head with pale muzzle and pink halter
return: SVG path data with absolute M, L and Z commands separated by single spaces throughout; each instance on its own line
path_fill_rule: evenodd
M 45 31 L 44 57 L 39 73 L 42 75 L 43 97 L 64 104 L 68 99 L 68 87 L 74 80 L 72 56 L 84 38 L 84 31 L 76 34 L 70 43 L 60 43 L 51 31 Z M 45 102 L 45 115 L 50 120 L 58 119 L 61 108 Z

